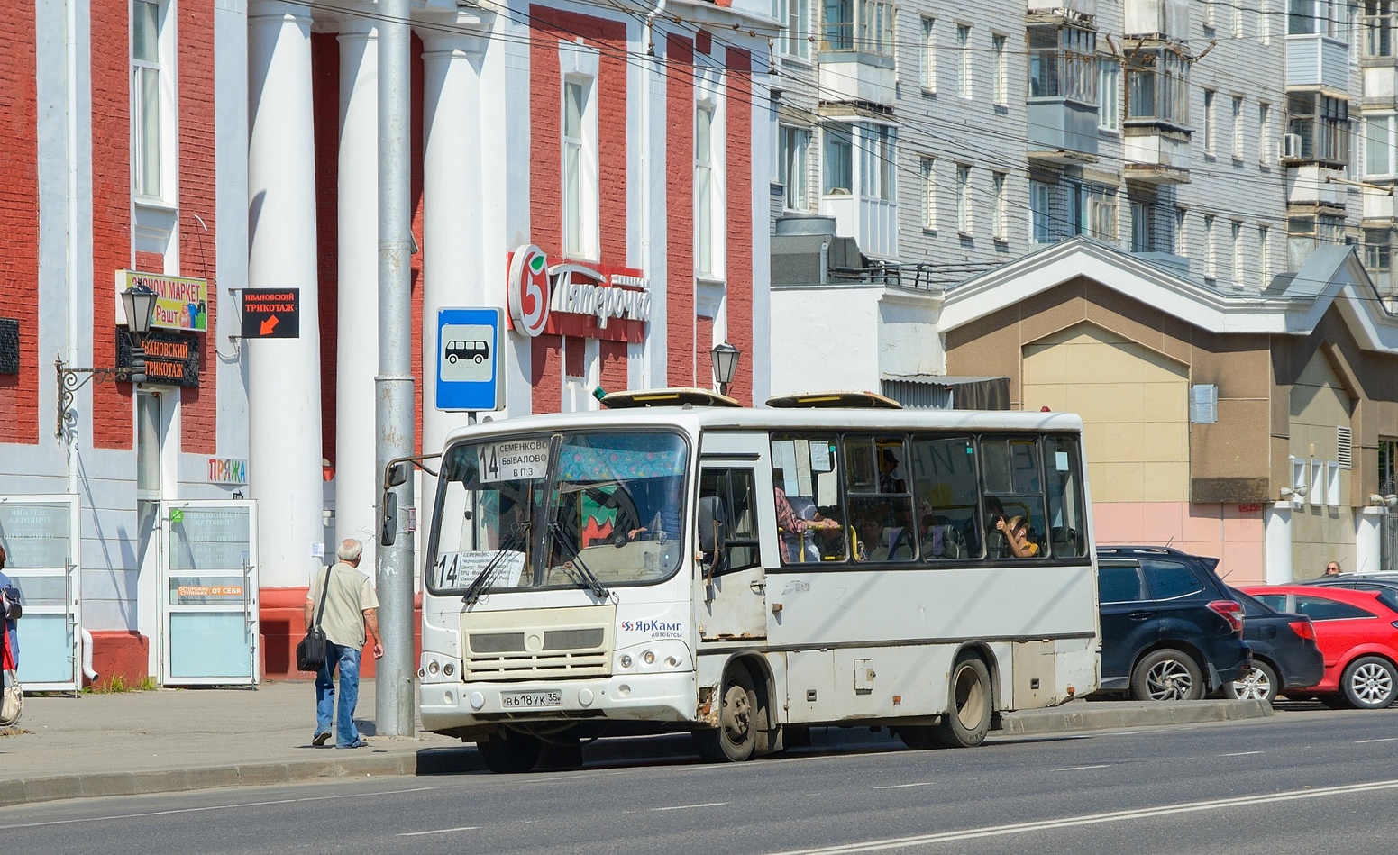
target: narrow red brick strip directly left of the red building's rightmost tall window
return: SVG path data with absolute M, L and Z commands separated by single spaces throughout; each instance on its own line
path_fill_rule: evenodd
M 693 43 L 670 35 L 665 57 L 665 380 L 670 386 L 696 386 Z

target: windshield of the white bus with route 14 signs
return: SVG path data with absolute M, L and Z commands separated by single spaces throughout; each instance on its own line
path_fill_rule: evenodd
M 682 555 L 688 460 L 685 440 L 668 432 L 453 446 L 438 485 L 428 588 L 473 598 L 545 587 L 604 595 L 604 585 L 665 578 Z

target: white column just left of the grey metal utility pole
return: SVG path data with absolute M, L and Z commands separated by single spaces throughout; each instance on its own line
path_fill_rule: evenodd
M 340 306 L 336 345 L 336 539 L 363 541 L 375 566 L 379 370 L 379 41 L 372 21 L 340 34 Z M 326 549 L 334 546 L 327 543 Z

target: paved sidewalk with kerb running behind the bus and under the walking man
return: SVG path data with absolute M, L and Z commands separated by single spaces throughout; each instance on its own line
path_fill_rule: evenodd
M 124 694 L 29 697 L 24 718 L 0 736 L 0 806 L 80 796 L 179 792 L 337 775 L 415 775 L 482 770 L 474 746 L 435 733 L 377 736 L 375 682 L 361 683 L 358 719 L 369 747 L 310 745 L 309 682 L 256 689 L 161 689 Z M 1260 701 L 1134 704 L 1072 701 L 1004 717 L 997 736 L 1177 725 L 1272 714 Z M 4 731 L 0 731 L 4 732 Z M 818 728 L 816 746 L 888 742 L 886 731 Z M 682 756 L 688 739 L 614 739 L 584 760 Z

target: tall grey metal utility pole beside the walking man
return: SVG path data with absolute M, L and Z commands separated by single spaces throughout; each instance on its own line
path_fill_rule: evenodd
M 379 0 L 379 374 L 375 377 L 377 476 L 390 460 L 414 454 L 411 176 L 408 162 L 408 0 Z M 393 488 L 412 507 L 412 479 Z M 379 629 L 383 659 L 375 682 L 375 724 L 384 736 L 414 732 L 412 536 L 398 514 L 398 536 L 379 555 Z

